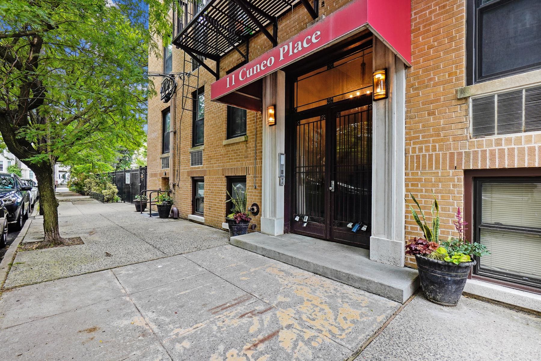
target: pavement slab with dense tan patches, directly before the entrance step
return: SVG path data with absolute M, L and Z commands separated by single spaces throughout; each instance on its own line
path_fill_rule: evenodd
M 263 298 L 335 342 L 358 349 L 400 304 L 314 275 Z

